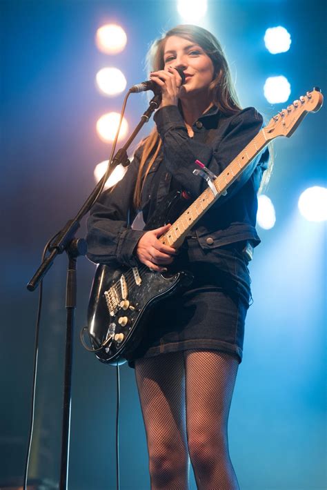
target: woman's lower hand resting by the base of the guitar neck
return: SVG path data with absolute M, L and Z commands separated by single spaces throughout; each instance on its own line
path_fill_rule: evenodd
M 147 231 L 137 243 L 137 258 L 152 271 L 166 271 L 166 267 L 163 266 L 171 264 L 174 256 L 177 255 L 175 248 L 162 244 L 158 239 L 169 230 L 170 226 L 171 224 L 166 224 L 166 226 Z

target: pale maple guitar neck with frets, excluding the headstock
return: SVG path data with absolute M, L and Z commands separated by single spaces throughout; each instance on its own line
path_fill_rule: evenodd
M 184 213 L 172 223 L 169 230 L 159 238 L 161 243 L 172 246 L 173 248 L 179 248 L 192 226 L 199 221 L 204 213 L 206 213 L 221 195 L 226 193 L 228 187 L 235 182 L 243 170 L 250 164 L 252 159 L 254 159 L 267 144 L 268 141 L 264 135 L 264 130 L 261 130 L 215 179 L 214 184 L 217 189 L 217 195 L 214 196 L 212 190 L 209 187 L 206 188 L 206 190 L 195 199 Z

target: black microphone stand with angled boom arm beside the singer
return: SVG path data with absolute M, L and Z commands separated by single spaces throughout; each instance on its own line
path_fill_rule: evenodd
M 143 125 L 148 122 L 152 112 L 154 112 L 160 104 L 161 93 L 157 93 L 150 101 L 149 107 L 146 112 L 141 116 L 141 121 L 130 135 L 126 144 L 117 151 L 115 157 L 112 159 L 110 170 L 103 175 L 101 180 L 95 186 L 92 193 L 86 199 L 83 206 L 81 206 L 79 212 L 74 219 L 70 219 L 63 229 L 56 235 L 57 238 L 50 244 L 50 255 L 43 260 L 36 273 L 34 273 L 30 282 L 28 282 L 28 291 L 34 291 L 43 277 L 48 273 L 48 270 L 52 266 L 54 259 L 57 255 L 66 251 L 68 254 L 68 271 L 67 271 L 67 285 L 66 285 L 66 353 L 65 353 L 65 375 L 64 375 L 64 389 L 63 389 L 63 421 L 62 421 L 62 437 L 61 437 L 61 468 L 60 468 L 60 490 L 67 490 L 68 481 L 68 456 L 69 456 L 69 441 L 70 441 L 70 404 L 71 404 L 71 381 L 72 381 L 72 353 L 73 353 L 73 338 L 74 338 L 74 322 L 75 322 L 75 308 L 77 297 L 77 257 L 79 255 L 86 255 L 87 244 L 83 238 L 75 239 L 75 233 L 81 226 L 80 221 L 83 216 L 88 213 L 93 204 L 95 204 L 95 198 L 97 197 L 101 186 L 104 186 L 105 179 L 108 179 L 112 171 L 121 164 L 128 166 L 130 161 L 127 157 L 127 149 L 135 139 Z M 37 358 L 34 360 L 34 373 L 36 368 Z M 28 468 L 26 469 L 26 473 Z M 26 478 L 27 481 L 27 478 Z

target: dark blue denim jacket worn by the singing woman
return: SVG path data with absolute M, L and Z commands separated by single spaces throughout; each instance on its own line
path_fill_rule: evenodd
M 199 159 L 215 175 L 219 175 L 263 126 L 262 116 L 251 107 L 231 116 L 223 115 L 212 107 L 193 124 L 193 137 L 189 137 L 177 106 L 160 108 L 154 119 L 163 142 L 163 151 L 150 168 L 143 186 L 141 208 L 145 222 L 164 203 L 172 176 L 174 182 L 186 190 L 191 199 L 195 199 L 207 186 L 204 179 L 192 173 L 198 168 L 195 160 Z M 123 179 L 115 188 L 103 192 L 91 210 L 86 239 L 88 258 L 92 262 L 137 265 L 135 248 L 143 233 L 146 233 L 131 227 L 137 215 L 133 194 L 141 152 L 142 147 L 135 153 Z M 201 261 L 210 248 L 244 240 L 250 240 L 253 246 L 259 244 L 255 230 L 257 191 L 267 167 L 268 150 L 264 150 L 228 188 L 227 195 L 219 197 L 199 219 L 192 229 L 191 261 Z M 158 174 L 159 182 L 154 186 Z M 194 239 L 197 246 L 194 246 Z

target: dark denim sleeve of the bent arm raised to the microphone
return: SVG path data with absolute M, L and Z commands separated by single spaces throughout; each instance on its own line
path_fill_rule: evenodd
M 221 134 L 218 127 L 217 138 L 210 144 L 205 144 L 188 136 L 177 106 L 165 106 L 157 110 L 155 122 L 164 144 L 167 168 L 193 198 L 199 196 L 207 185 L 204 179 L 192 173 L 195 168 L 198 168 L 195 160 L 199 159 L 215 175 L 219 175 L 263 126 L 263 118 L 259 112 L 252 107 L 246 108 L 230 117 L 224 133 Z M 266 169 L 268 152 L 264 153 L 265 157 L 262 159 L 261 155 L 263 154 L 257 155 L 252 160 L 239 179 L 228 188 L 227 195 L 221 196 L 215 206 L 223 204 L 235 195 L 248 181 L 257 164 L 260 163 L 262 166 L 262 172 Z

